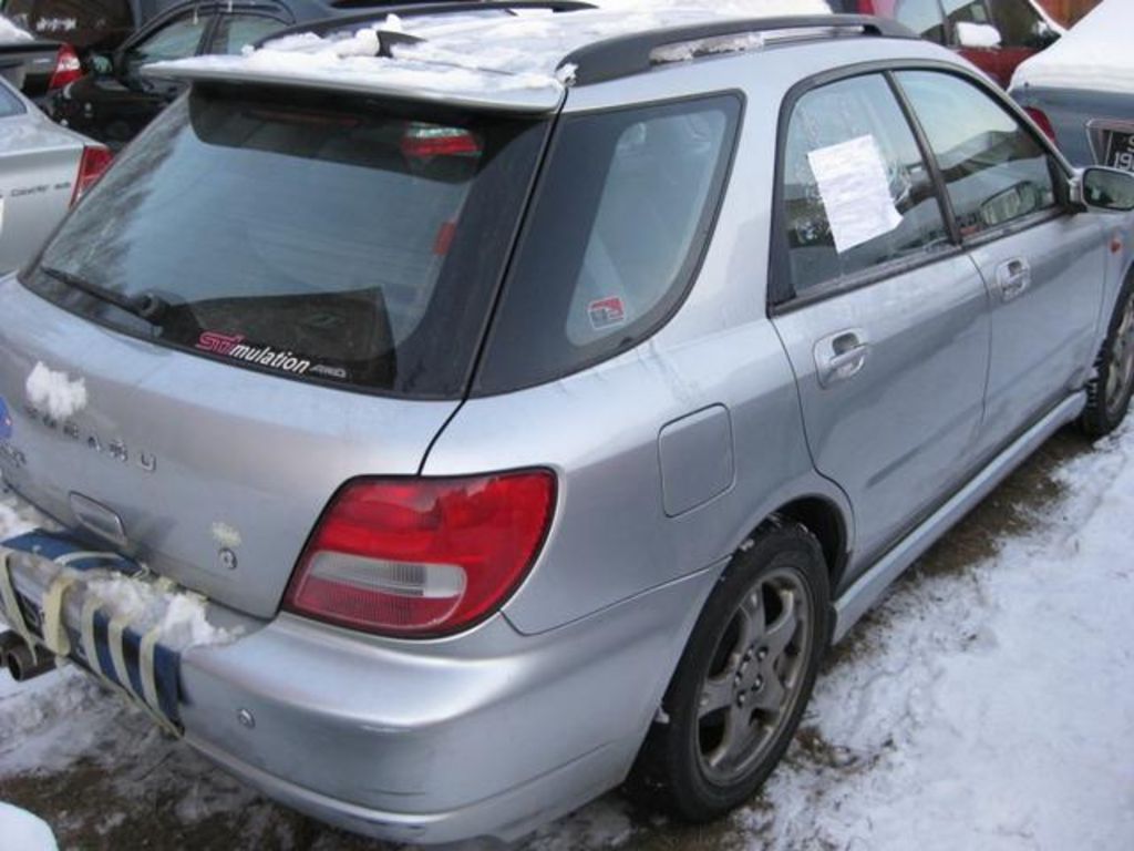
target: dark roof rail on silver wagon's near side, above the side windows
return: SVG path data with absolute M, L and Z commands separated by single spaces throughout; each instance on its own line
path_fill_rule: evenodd
M 604 39 L 568 53 L 559 68 L 575 66 L 575 85 L 590 85 L 650 70 L 658 62 L 653 52 L 682 42 L 717 39 L 777 30 L 861 30 L 887 39 L 916 39 L 913 31 L 887 18 L 870 15 L 795 15 L 737 18 L 652 30 Z

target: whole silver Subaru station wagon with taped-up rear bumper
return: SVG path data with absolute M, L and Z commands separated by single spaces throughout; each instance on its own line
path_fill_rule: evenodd
M 892 22 L 621 6 L 151 69 L 0 280 L 0 471 L 60 525 L 3 542 L 15 673 L 389 840 L 627 777 L 705 820 L 919 554 L 1118 426 L 1134 177 Z

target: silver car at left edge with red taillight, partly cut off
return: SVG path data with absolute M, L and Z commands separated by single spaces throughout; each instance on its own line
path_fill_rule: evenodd
M 110 151 L 53 124 L 0 77 L 0 272 L 31 260 L 109 165 Z

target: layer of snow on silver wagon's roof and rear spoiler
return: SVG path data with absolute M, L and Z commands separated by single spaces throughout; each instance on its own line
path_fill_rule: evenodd
M 829 15 L 826 0 L 593 0 L 599 8 L 569 12 L 475 10 L 398 18 L 375 15 L 353 35 L 314 33 L 270 41 L 242 56 L 158 62 L 146 73 L 188 79 L 246 79 L 387 94 L 413 94 L 464 106 L 516 111 L 558 107 L 572 78 L 564 57 L 593 42 L 709 20 Z M 355 25 L 357 26 L 357 25 Z M 376 56 L 380 33 L 422 41 Z

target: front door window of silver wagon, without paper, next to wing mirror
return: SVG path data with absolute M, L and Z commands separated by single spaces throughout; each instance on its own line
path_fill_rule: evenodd
M 963 236 L 1055 207 L 1047 152 L 1004 107 L 948 74 L 897 77 L 937 157 Z

